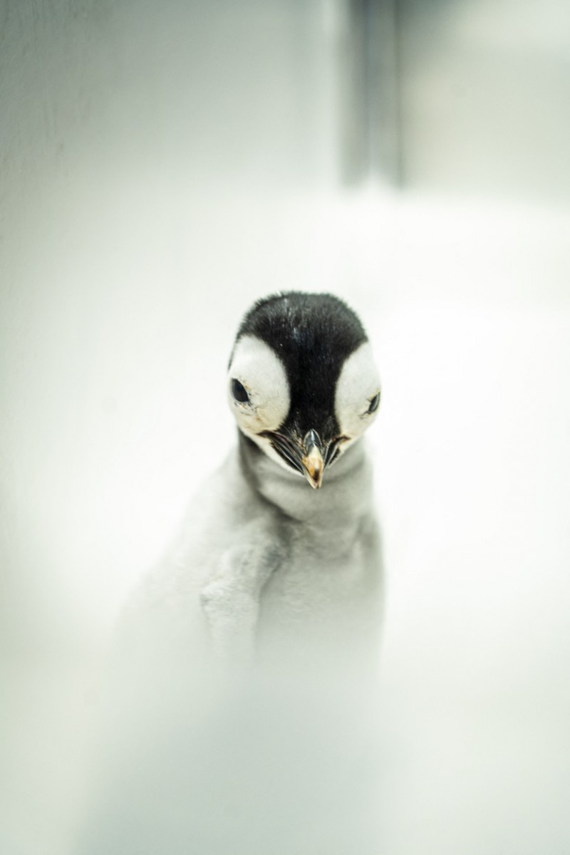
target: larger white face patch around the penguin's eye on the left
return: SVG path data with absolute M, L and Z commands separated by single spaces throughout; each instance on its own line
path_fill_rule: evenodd
M 232 380 L 238 380 L 248 394 L 239 402 L 232 395 Z M 238 340 L 227 375 L 230 409 L 239 428 L 248 436 L 263 430 L 277 430 L 289 412 L 291 395 L 283 363 L 269 345 L 252 335 Z

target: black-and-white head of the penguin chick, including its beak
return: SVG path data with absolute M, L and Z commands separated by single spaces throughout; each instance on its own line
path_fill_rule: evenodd
M 284 292 L 245 315 L 227 392 L 242 433 L 316 489 L 373 422 L 380 383 L 355 312 L 332 294 Z

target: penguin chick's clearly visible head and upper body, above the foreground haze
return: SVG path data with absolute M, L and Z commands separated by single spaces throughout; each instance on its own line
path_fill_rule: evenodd
M 245 315 L 226 380 L 238 445 L 146 586 L 202 661 L 374 656 L 381 562 L 362 434 L 379 374 L 356 314 L 284 292 Z M 156 646 L 154 646 L 156 651 Z M 202 656 L 203 653 L 203 656 Z

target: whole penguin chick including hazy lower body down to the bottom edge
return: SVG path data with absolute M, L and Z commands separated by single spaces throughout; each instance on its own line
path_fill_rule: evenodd
M 361 321 L 331 294 L 258 300 L 226 397 L 238 442 L 120 621 L 77 855 L 378 851 L 382 559 L 363 434 L 380 382 Z

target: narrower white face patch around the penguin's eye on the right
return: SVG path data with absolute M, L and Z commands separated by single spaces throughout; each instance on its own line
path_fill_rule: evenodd
M 365 341 L 350 354 L 338 378 L 335 411 L 341 433 L 350 439 L 364 433 L 376 416 L 368 410 L 379 391 L 380 378 L 372 347 Z

